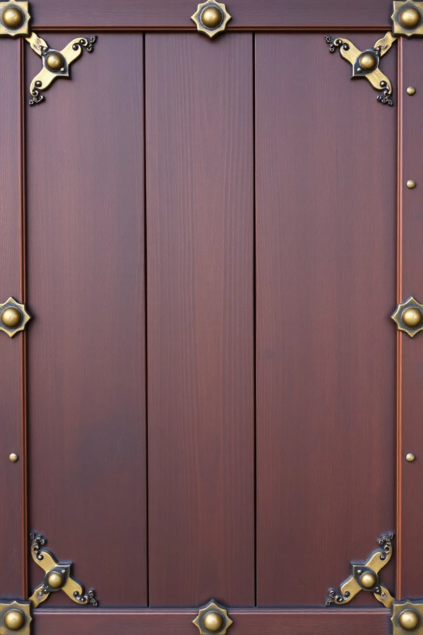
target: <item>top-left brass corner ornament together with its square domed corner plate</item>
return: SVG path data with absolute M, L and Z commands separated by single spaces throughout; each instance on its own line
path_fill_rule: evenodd
M 0 36 L 25 37 L 33 51 L 41 57 L 42 69 L 30 83 L 29 105 L 40 104 L 46 90 L 58 77 L 69 77 L 69 66 L 80 57 L 82 50 L 91 53 L 96 36 L 76 37 L 61 51 L 50 48 L 42 37 L 29 30 L 30 14 L 28 3 L 21 0 L 0 1 Z

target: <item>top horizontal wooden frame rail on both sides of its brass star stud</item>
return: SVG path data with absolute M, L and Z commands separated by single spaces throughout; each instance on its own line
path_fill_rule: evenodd
M 190 17 L 198 0 L 37 0 L 32 7 L 34 30 L 47 27 L 137 27 L 195 29 Z M 392 4 L 386 0 L 230 0 L 228 29 L 278 27 L 359 27 L 391 29 Z M 203 37 L 203 36 L 200 36 Z

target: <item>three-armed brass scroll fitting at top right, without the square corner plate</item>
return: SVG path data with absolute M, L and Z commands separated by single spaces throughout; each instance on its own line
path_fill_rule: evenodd
M 394 41 L 396 41 L 396 37 L 393 37 L 390 32 L 387 32 L 384 37 L 381 37 L 381 39 L 375 43 L 373 48 L 368 48 L 365 51 L 358 50 L 358 48 L 345 37 L 325 36 L 325 40 L 327 44 L 329 44 L 330 53 L 335 53 L 335 50 L 339 49 L 341 57 L 351 64 L 353 67 L 351 79 L 355 79 L 355 77 L 365 77 L 375 90 L 381 91 L 382 94 L 377 97 L 377 100 L 381 102 L 381 104 L 394 105 L 391 99 L 391 81 L 389 81 L 386 75 L 379 69 L 379 62 L 381 57 L 386 55 Z

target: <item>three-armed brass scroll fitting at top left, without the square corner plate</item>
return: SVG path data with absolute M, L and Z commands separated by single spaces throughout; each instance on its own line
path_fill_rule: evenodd
M 84 48 L 88 53 L 94 50 L 97 36 L 76 37 L 62 51 L 50 48 L 46 41 L 42 37 L 38 37 L 36 33 L 31 33 L 25 39 L 42 60 L 42 69 L 34 77 L 29 87 L 31 94 L 29 105 L 33 106 L 44 100 L 44 95 L 40 95 L 41 90 L 46 90 L 58 77 L 69 77 L 70 64 L 81 56 Z

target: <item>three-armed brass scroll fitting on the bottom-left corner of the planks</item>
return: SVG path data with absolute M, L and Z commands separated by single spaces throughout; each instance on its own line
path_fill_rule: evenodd
M 51 551 L 42 549 L 46 539 L 41 535 L 30 533 L 30 540 L 32 559 L 46 574 L 29 598 L 34 608 L 55 591 L 64 591 L 77 604 L 98 606 L 94 589 L 84 592 L 82 584 L 72 576 L 72 562 L 59 562 Z

